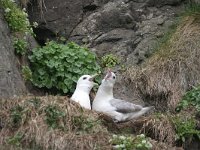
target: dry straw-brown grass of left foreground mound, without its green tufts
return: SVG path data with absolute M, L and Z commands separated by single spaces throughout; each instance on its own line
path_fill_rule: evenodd
M 95 112 L 81 109 L 77 104 L 73 104 L 66 97 L 39 97 L 41 104 L 36 108 L 29 100 L 33 97 L 19 98 L 1 101 L 0 119 L 2 129 L 0 130 L 0 145 L 9 145 L 8 139 L 13 139 L 18 133 L 22 134 L 20 143 L 23 147 L 39 147 L 41 149 L 110 149 L 109 133 L 107 129 L 99 123 L 98 115 Z M 10 110 L 17 105 L 24 107 L 22 120 L 19 125 L 13 125 Z M 58 127 L 52 129 L 45 121 L 45 108 L 49 105 L 56 105 L 66 114 L 58 119 Z M 81 128 L 74 123 L 74 116 L 83 118 L 84 125 L 88 128 Z M 85 122 L 87 118 L 92 122 Z M 91 125 L 92 123 L 92 125 Z M 89 130 L 87 132 L 87 129 Z M 16 140 L 16 139 L 15 139 Z M 17 145 L 17 142 L 15 142 Z M 20 145 L 20 146 L 22 146 Z

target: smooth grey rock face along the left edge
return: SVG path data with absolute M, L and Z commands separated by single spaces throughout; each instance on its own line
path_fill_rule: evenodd
M 0 10 L 0 98 L 23 95 L 27 92 L 14 54 L 11 34 Z

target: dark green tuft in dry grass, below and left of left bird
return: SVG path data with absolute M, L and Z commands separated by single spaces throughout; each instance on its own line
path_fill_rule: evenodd
M 65 117 L 65 112 L 60 110 L 60 108 L 56 105 L 49 105 L 45 108 L 45 121 L 49 127 L 55 128 L 63 128 L 60 124 L 60 120 Z

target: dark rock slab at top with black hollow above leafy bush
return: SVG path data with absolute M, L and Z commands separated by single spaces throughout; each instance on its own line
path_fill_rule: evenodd
M 31 22 L 38 22 L 34 29 L 38 35 L 37 40 L 42 44 L 47 39 L 55 39 L 57 36 L 68 38 L 73 29 L 83 20 L 83 16 L 89 11 L 107 3 L 108 0 L 31 0 L 28 13 Z

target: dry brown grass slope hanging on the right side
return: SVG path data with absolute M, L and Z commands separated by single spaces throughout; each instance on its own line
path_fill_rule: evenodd
M 174 110 L 182 95 L 200 81 L 200 21 L 185 17 L 172 38 L 140 67 L 125 73 L 136 97 L 159 110 Z

